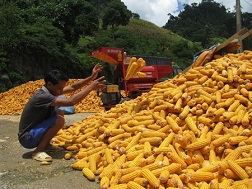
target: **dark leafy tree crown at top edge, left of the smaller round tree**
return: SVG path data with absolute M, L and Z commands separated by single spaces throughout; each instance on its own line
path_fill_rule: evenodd
M 42 13 L 61 29 L 68 43 L 76 45 L 83 35 L 92 35 L 99 28 L 95 7 L 84 0 L 63 0 L 55 6 L 45 4 Z

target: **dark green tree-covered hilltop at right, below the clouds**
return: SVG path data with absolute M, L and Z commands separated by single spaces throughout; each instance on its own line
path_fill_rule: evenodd
M 171 14 L 164 28 L 209 47 L 212 38 L 228 38 L 235 33 L 235 14 L 214 1 L 185 5 L 177 17 Z M 231 35 L 230 35 L 231 34 Z

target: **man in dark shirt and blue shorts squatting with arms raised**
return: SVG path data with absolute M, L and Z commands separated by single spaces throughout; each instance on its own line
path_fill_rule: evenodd
M 53 70 L 45 76 L 45 85 L 30 98 L 19 122 L 19 142 L 24 148 L 35 148 L 32 152 L 33 159 L 52 161 L 52 157 L 47 152 L 60 149 L 52 145 L 50 141 L 65 124 L 63 111 L 56 107 L 73 106 L 83 100 L 91 91 L 103 87 L 104 76 L 97 79 L 101 71 L 102 66 L 97 64 L 94 66 L 91 76 L 69 86 L 66 86 L 68 77 L 60 70 Z M 87 86 L 84 89 L 70 98 L 58 97 L 81 89 L 85 85 Z

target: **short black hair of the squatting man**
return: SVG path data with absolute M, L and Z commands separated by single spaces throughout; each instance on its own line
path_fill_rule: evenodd
M 52 70 L 50 71 L 44 78 L 45 83 L 51 82 L 53 85 L 59 83 L 59 81 L 69 81 L 69 78 L 60 70 Z

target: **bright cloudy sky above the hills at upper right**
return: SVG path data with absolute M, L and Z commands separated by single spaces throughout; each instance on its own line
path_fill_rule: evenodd
M 152 22 L 160 27 L 168 21 L 168 13 L 177 16 L 183 8 L 183 4 L 200 3 L 201 0 L 121 0 L 133 13 L 140 18 Z M 235 10 L 236 0 L 215 0 L 223 4 L 231 12 Z M 252 0 L 240 0 L 241 11 L 252 13 Z

